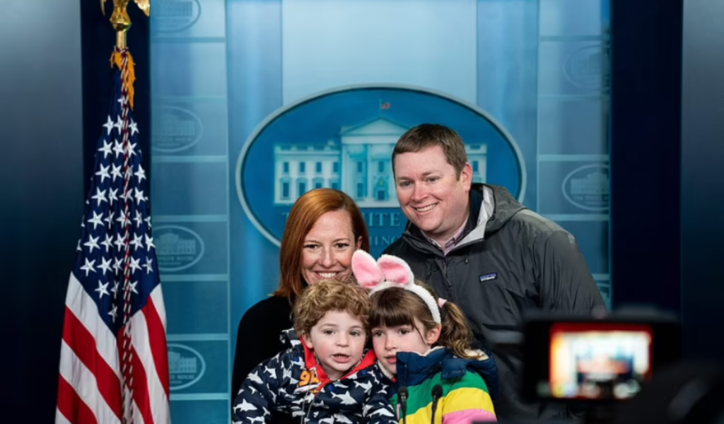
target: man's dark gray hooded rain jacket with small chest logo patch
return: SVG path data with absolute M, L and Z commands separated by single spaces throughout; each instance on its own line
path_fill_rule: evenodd
M 576 240 L 555 222 L 518 203 L 505 188 L 493 185 L 473 185 L 465 231 L 444 255 L 408 223 L 403 236 L 384 253 L 406 260 L 416 278 L 466 313 L 477 342 L 497 361 L 498 417 L 568 416 L 563 407 L 523 402 L 521 349 L 495 342 L 520 335 L 526 309 L 590 313 L 593 308 L 605 308 Z

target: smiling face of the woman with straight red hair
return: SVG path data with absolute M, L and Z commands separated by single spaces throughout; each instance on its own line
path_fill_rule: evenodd
M 352 254 L 362 245 L 355 240 L 350 213 L 324 213 L 304 238 L 302 276 L 309 285 L 323 279 L 345 281 L 352 274 Z

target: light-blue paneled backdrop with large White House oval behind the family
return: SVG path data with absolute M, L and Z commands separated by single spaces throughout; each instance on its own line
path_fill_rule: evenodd
M 348 192 L 374 255 L 400 235 L 390 153 L 422 122 L 460 132 L 474 179 L 572 232 L 610 299 L 607 1 L 153 7 L 153 231 L 174 423 L 229 419 L 236 326 L 277 285 L 301 193 Z

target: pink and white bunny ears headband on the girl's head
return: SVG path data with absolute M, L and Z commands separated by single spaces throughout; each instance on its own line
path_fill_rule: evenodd
M 375 261 L 369 253 L 357 250 L 352 255 L 352 272 L 355 274 L 357 283 L 370 289 L 371 293 L 390 287 L 400 287 L 417 294 L 430 309 L 433 321 L 438 324 L 442 323 L 435 298 L 426 289 L 415 284 L 415 276 L 413 276 L 410 266 L 397 256 L 382 255 L 379 260 Z M 445 300 L 440 300 L 440 308 L 444 302 Z

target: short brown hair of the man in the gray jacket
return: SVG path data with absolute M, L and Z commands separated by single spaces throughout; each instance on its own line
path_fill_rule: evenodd
M 395 156 L 401 153 L 416 153 L 436 145 L 442 147 L 445 160 L 455 168 L 455 176 L 459 179 L 460 172 L 468 163 L 465 143 L 457 132 L 440 124 L 420 124 L 405 132 L 392 150 L 392 171 L 395 171 Z

